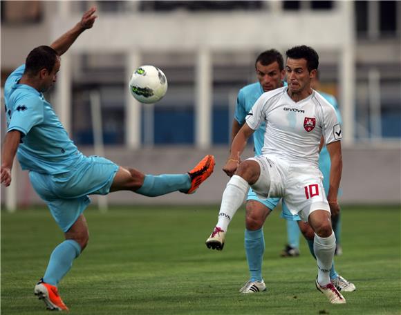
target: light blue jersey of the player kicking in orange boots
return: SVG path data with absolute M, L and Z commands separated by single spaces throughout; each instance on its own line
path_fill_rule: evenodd
M 78 151 L 44 95 L 19 84 L 25 65 L 19 66 L 4 85 L 7 131 L 24 134 L 17 151 L 22 169 L 60 174 L 71 169 L 83 155 Z

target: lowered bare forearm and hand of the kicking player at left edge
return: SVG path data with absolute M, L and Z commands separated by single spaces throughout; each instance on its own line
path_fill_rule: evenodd
M 21 132 L 17 130 L 8 131 L 4 137 L 3 150 L 1 151 L 1 184 L 8 187 L 11 183 L 12 162 L 21 141 Z

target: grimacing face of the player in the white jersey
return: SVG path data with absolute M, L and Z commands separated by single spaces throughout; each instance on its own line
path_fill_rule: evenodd
M 310 89 L 310 80 L 315 77 L 316 70 L 309 72 L 306 64 L 307 61 L 304 58 L 287 58 L 287 83 L 288 90 L 290 90 L 291 93 L 302 93 Z

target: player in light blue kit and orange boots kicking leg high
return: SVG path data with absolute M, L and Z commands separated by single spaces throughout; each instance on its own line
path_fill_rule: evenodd
M 51 46 L 33 49 L 26 64 L 12 72 L 4 86 L 8 129 L 1 156 L 1 183 L 10 185 L 12 162 L 17 153 L 22 169 L 29 171 L 32 186 L 64 232 L 64 242 L 53 250 L 44 277 L 34 289 L 48 309 L 60 311 L 68 307 L 60 298 L 57 285 L 88 242 L 83 214 L 90 203 L 88 195 L 121 190 L 147 196 L 172 191 L 194 193 L 214 169 L 214 157 L 207 155 L 188 173 L 144 175 L 78 151 L 43 93 L 56 82 L 59 56 L 84 30 L 93 26 L 94 13 L 95 8 L 88 10 L 79 23 Z

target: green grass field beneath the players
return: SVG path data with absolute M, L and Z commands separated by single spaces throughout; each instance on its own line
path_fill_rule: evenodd
M 357 286 L 346 305 L 330 305 L 315 289 L 306 242 L 298 258 L 279 257 L 286 231 L 278 211 L 264 228 L 268 291 L 239 294 L 248 279 L 244 209 L 216 252 L 204 242 L 217 207 L 86 210 L 91 239 L 59 291 L 71 314 L 401 314 L 400 207 L 342 211 L 336 267 Z M 1 213 L 1 314 L 46 314 L 33 287 L 62 239 L 46 209 Z

